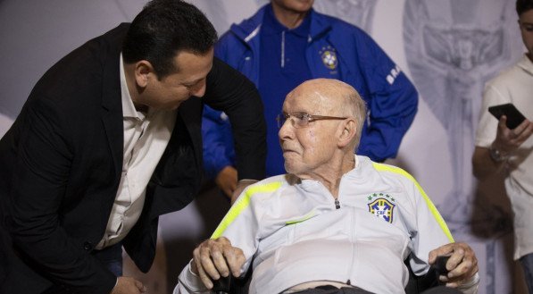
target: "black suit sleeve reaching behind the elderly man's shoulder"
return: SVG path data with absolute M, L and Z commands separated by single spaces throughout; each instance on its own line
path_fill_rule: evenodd
M 228 64 L 214 58 L 207 76 L 204 103 L 228 114 L 238 179 L 262 180 L 265 174 L 266 125 L 257 88 Z

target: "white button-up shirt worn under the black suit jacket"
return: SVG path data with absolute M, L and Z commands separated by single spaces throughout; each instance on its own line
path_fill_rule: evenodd
M 121 96 L 124 124 L 124 154 L 121 183 L 112 206 L 102 249 L 118 243 L 137 223 L 145 203 L 146 185 L 171 139 L 176 111 L 137 112 L 129 95 L 121 55 Z

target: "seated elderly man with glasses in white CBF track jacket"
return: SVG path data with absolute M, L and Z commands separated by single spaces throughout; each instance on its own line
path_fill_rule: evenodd
M 422 275 L 442 255 L 451 257 L 441 281 L 475 293 L 476 257 L 454 243 L 418 182 L 354 155 L 365 113 L 355 89 L 339 80 L 310 80 L 290 92 L 279 116 L 288 174 L 238 197 L 195 249 L 174 293 L 207 291 L 252 264 L 250 293 L 398 293 L 408 281 L 404 260 Z

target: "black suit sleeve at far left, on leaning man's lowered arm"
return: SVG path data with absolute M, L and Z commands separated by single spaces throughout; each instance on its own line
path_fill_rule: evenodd
M 109 293 L 116 277 L 60 225 L 73 157 L 62 117 L 52 100 L 38 98 L 15 122 L 21 129 L 6 226 L 13 247 L 40 275 L 76 293 Z

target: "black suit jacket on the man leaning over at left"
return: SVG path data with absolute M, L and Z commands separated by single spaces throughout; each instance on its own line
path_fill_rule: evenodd
M 121 179 L 119 58 L 128 28 L 121 24 L 54 64 L 0 141 L 0 293 L 40 293 L 52 284 L 109 293 L 115 284 L 90 252 L 104 236 Z M 261 99 L 215 59 L 205 96 L 179 106 L 143 212 L 123 240 L 144 272 L 154 260 L 158 216 L 187 206 L 199 189 L 202 102 L 234 125 L 239 178 L 263 177 Z

